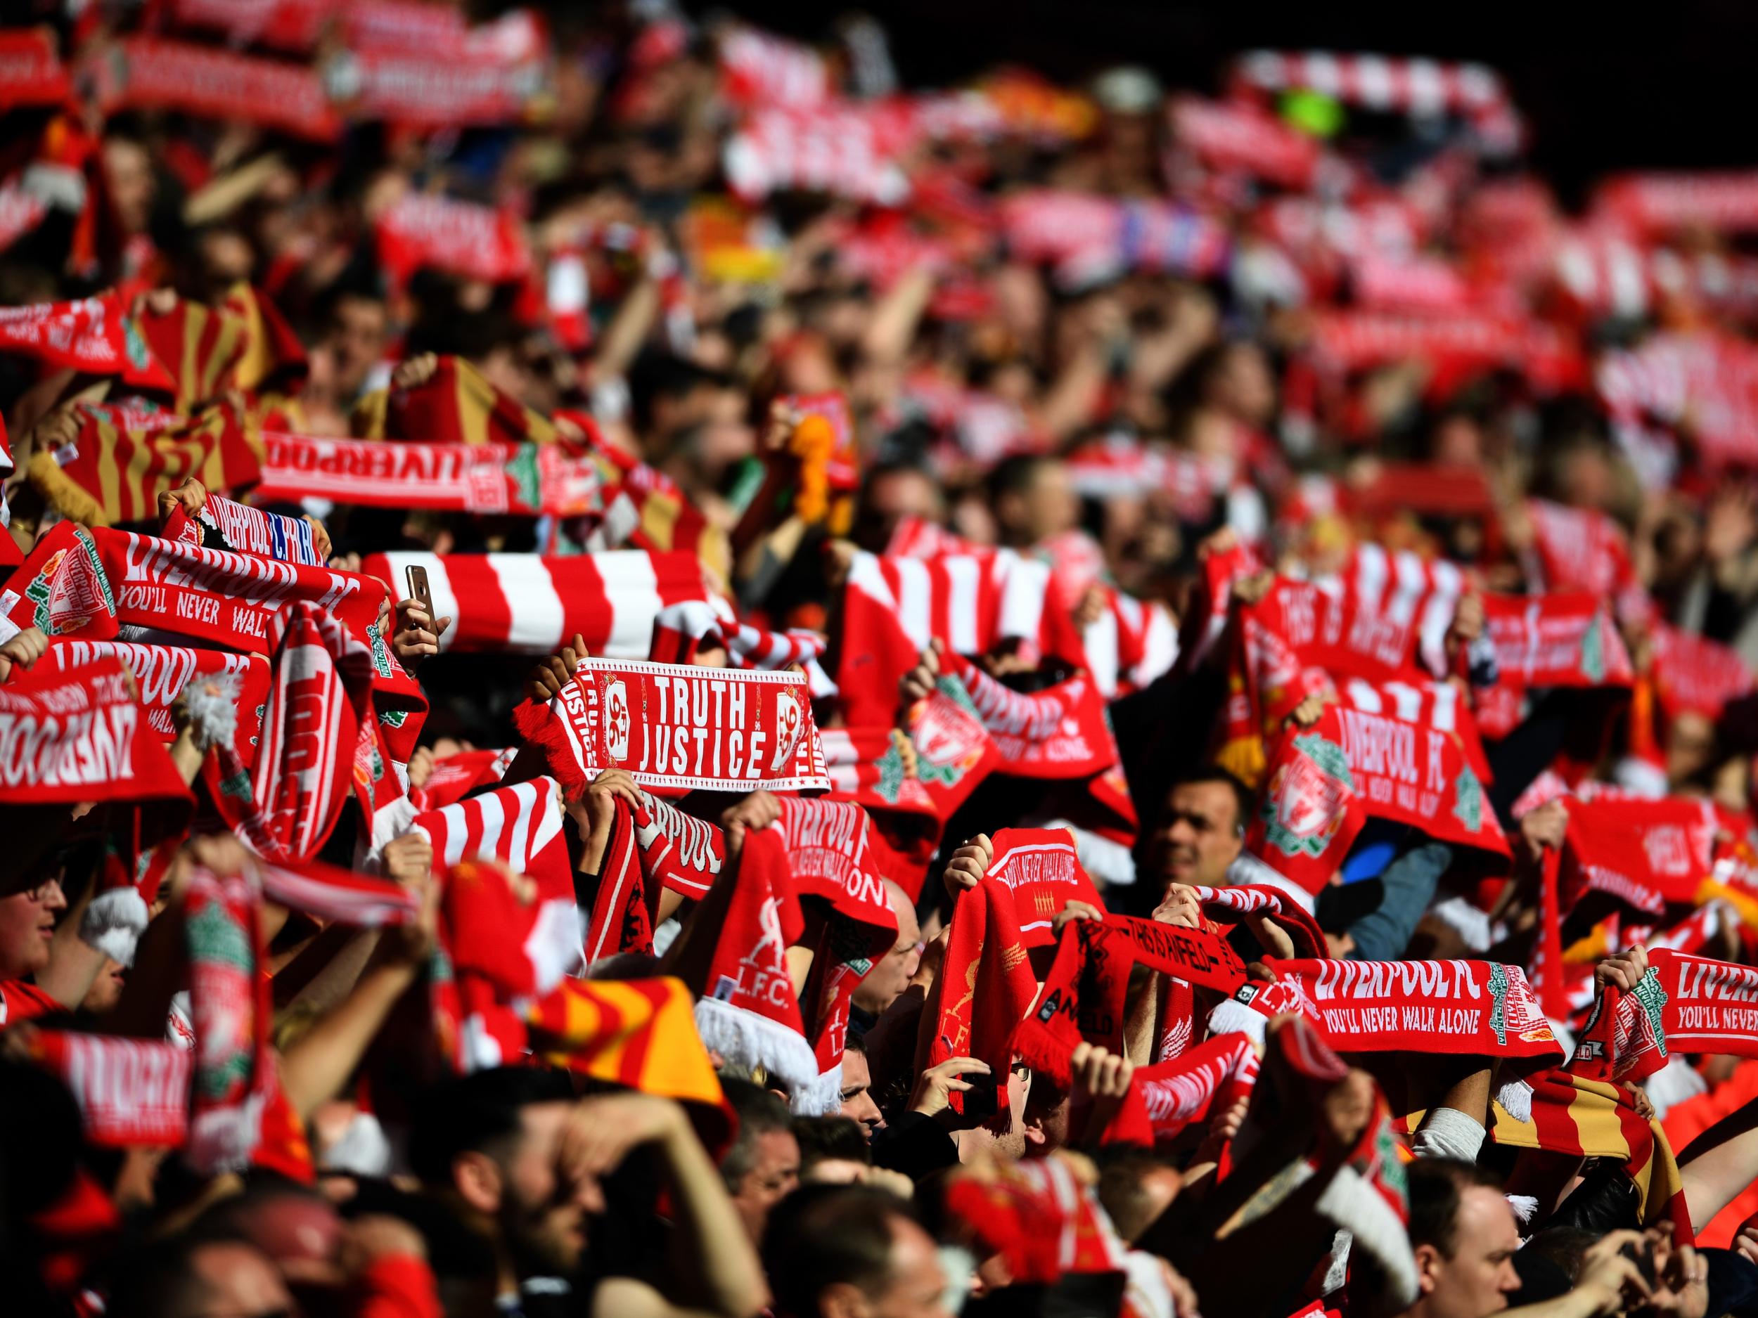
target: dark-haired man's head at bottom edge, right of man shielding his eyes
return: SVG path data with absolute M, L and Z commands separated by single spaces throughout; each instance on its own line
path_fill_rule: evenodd
M 933 1237 L 893 1195 L 805 1186 L 763 1234 L 782 1318 L 941 1318 L 946 1274 Z

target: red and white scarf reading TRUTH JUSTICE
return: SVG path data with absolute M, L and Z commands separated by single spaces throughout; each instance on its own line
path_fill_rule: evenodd
M 584 659 L 513 722 L 570 793 L 610 768 L 659 791 L 830 787 L 800 673 Z

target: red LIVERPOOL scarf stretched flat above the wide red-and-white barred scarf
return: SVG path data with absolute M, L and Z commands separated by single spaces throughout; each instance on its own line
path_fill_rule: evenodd
M 601 506 L 601 469 L 559 445 L 329 439 L 264 431 L 257 497 L 308 496 L 366 508 L 582 517 Z

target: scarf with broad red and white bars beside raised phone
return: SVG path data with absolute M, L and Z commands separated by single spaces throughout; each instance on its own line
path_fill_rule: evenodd
M 684 552 L 373 554 L 362 571 L 401 594 L 408 568 L 427 569 L 434 610 L 457 619 L 441 650 L 554 654 L 578 633 L 596 657 L 645 659 L 659 610 L 716 599 Z

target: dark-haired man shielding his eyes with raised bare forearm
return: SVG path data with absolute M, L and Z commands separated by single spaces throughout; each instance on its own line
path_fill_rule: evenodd
M 657 1153 L 677 1225 L 665 1290 L 687 1293 L 691 1309 L 642 1279 L 580 1276 L 587 1214 L 605 1211 L 601 1177 L 642 1146 Z M 422 1105 L 410 1160 L 429 1191 L 492 1242 L 501 1313 L 548 1311 L 570 1293 L 568 1313 L 601 1318 L 703 1309 L 742 1318 L 763 1302 L 763 1278 L 738 1214 L 684 1109 L 668 1098 L 605 1093 L 577 1100 L 559 1072 L 480 1070 Z

